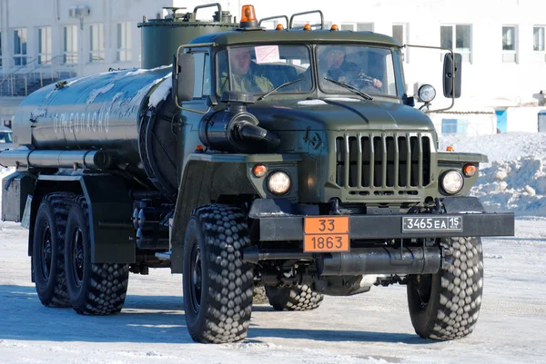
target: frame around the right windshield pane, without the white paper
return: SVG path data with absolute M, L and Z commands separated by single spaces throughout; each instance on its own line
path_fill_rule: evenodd
M 366 91 L 362 90 L 362 91 L 364 91 L 365 93 L 368 93 L 371 96 L 374 96 L 374 98 L 375 97 L 387 97 L 387 98 L 401 99 L 401 97 L 402 97 L 401 93 L 403 93 L 403 87 L 402 87 L 403 84 L 400 84 L 400 74 L 399 74 L 399 72 L 401 70 L 400 70 L 400 64 L 399 64 L 399 57 L 395 55 L 397 53 L 396 48 L 394 48 L 392 46 L 380 46 L 378 44 L 350 43 L 350 42 L 347 42 L 347 43 L 318 43 L 318 44 L 314 44 L 314 54 L 313 55 L 314 55 L 314 61 L 315 61 L 315 69 L 316 69 L 317 74 L 319 74 L 319 77 L 320 77 L 319 47 L 321 47 L 321 46 L 366 47 L 366 48 L 377 48 L 377 49 L 382 49 L 382 50 L 389 51 L 391 61 L 392 61 L 392 73 L 393 73 L 393 78 L 394 78 L 395 93 L 376 93 L 376 92 L 369 91 L 369 90 L 366 90 Z M 324 87 L 325 84 L 329 84 L 328 81 L 317 79 L 317 86 L 319 87 L 319 90 L 322 93 L 329 94 L 329 95 L 330 94 L 332 94 L 332 95 L 335 95 L 335 94 L 343 94 L 343 95 L 351 94 L 351 95 L 354 95 L 355 94 L 355 93 L 350 92 L 347 89 L 343 89 L 341 86 L 338 86 L 336 90 L 332 90 L 332 89 L 330 89 L 328 87 Z

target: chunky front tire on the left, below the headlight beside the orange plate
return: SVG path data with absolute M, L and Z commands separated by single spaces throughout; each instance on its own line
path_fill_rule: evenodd
M 241 209 L 210 204 L 192 213 L 182 281 L 187 330 L 195 341 L 219 344 L 247 337 L 254 273 L 242 250 L 249 244 Z

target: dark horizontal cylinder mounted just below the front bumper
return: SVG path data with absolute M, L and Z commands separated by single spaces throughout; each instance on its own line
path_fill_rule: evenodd
M 440 265 L 438 247 L 359 248 L 323 255 L 317 260 L 317 271 L 321 276 L 434 274 Z

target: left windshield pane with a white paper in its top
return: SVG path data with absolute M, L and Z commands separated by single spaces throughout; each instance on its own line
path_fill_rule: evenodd
M 231 47 L 228 53 L 223 50 L 217 55 L 218 93 L 231 90 L 263 94 L 300 78 L 303 80 L 282 87 L 277 93 L 308 93 L 312 88 L 309 59 L 309 48 L 304 45 Z

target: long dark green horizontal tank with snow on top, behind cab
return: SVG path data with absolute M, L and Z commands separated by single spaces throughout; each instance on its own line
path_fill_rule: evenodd
M 141 112 L 167 98 L 170 72 L 170 66 L 114 71 L 46 86 L 17 108 L 15 144 L 35 150 L 104 149 L 116 162 L 142 166 Z

